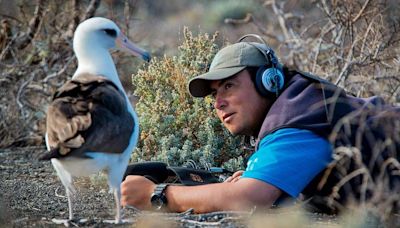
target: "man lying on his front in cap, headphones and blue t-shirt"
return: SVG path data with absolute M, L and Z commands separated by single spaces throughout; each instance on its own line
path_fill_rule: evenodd
M 189 82 L 189 92 L 211 95 L 217 116 L 233 135 L 257 139 L 247 169 L 223 183 L 201 186 L 156 186 L 131 175 L 121 186 L 122 205 L 151 209 L 153 196 L 161 195 L 168 211 L 205 213 L 268 208 L 284 196 L 315 193 L 320 182 L 312 180 L 332 160 L 328 138 L 334 126 L 366 104 L 381 102 L 349 97 L 329 82 L 283 69 L 272 49 L 253 42 L 220 50 L 209 72 Z

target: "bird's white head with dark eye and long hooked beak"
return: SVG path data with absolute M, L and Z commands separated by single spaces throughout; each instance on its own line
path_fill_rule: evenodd
M 74 34 L 74 51 L 77 55 L 82 50 L 118 48 L 145 61 L 150 61 L 150 54 L 131 42 L 111 20 L 93 17 L 80 23 Z

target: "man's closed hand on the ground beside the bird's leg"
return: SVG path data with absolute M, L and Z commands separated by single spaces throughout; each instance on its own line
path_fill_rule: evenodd
M 151 209 L 150 198 L 156 184 L 143 176 L 130 175 L 121 183 L 121 204 L 141 210 Z

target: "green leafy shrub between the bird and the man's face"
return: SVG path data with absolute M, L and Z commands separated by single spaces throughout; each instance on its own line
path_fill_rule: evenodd
M 213 166 L 242 168 L 241 138 L 232 137 L 216 118 L 209 98 L 193 98 L 188 80 L 207 72 L 218 51 L 217 33 L 193 36 L 183 31 L 177 56 L 154 58 L 133 76 L 140 139 L 133 161 L 158 160 L 182 165 L 188 160 Z

